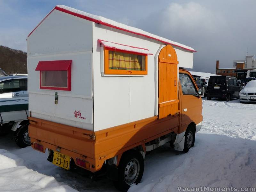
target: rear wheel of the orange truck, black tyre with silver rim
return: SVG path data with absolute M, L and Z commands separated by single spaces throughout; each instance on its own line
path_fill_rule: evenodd
M 134 172 L 131 174 L 131 180 L 125 173 Z M 115 187 L 120 191 L 128 191 L 130 186 L 135 183 L 138 184 L 142 178 L 144 172 L 144 159 L 140 152 L 135 150 L 126 151 L 120 160 L 118 165 L 118 180 L 114 181 Z M 127 178 L 128 176 L 128 178 Z M 125 179 L 126 177 L 126 179 Z

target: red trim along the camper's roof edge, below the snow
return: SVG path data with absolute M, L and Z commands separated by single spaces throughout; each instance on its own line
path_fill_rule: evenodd
M 142 34 L 142 33 L 137 33 L 137 32 L 134 32 L 134 31 L 131 31 L 131 30 L 127 30 L 127 29 L 124 29 L 124 28 L 116 27 L 116 26 L 111 25 L 111 24 L 109 24 L 109 23 L 102 22 L 101 20 L 92 19 L 92 18 L 90 18 L 90 17 L 84 16 L 84 15 L 81 15 L 81 14 L 78 14 L 78 13 L 74 13 L 74 12 L 68 11 L 68 10 L 66 10 L 66 9 L 57 7 L 57 6 L 56 6 L 53 10 L 55 10 L 55 9 L 56 9 L 56 10 L 59 10 L 59 11 L 62 11 L 62 12 L 65 12 L 65 13 L 68 13 L 68 14 L 71 14 L 71 15 L 74 15 L 74 16 L 76 16 L 76 17 L 80 17 L 80 18 L 82 18 L 82 19 L 86 19 L 86 20 L 89 20 L 89 21 L 93 21 L 93 22 L 95 22 L 95 23 L 99 23 L 99 24 L 108 26 L 108 27 L 116 28 L 116 29 L 119 29 L 119 30 L 122 30 L 122 31 L 126 31 L 126 32 L 129 32 L 129 33 L 133 33 L 133 34 L 136 34 L 136 35 L 140 35 L 140 36 L 144 36 L 144 37 L 147 37 L 147 38 L 150 38 L 150 39 L 154 39 L 154 40 L 160 41 L 160 42 L 162 42 L 162 43 L 164 43 L 164 44 L 171 44 L 171 43 L 162 41 L 162 40 L 160 40 L 160 39 L 158 39 L 158 38 L 151 37 L 151 36 L 148 36 L 148 35 L 145 35 L 145 34 Z M 52 10 L 52 11 L 53 11 L 53 10 Z M 52 12 L 52 11 L 51 11 L 51 12 Z M 50 13 L 51 13 L 51 12 L 50 12 Z M 49 14 L 50 14 L 50 13 L 49 13 Z M 48 15 L 49 15 L 49 14 L 48 14 Z M 48 16 L 48 15 L 47 15 L 47 16 Z M 46 17 L 47 17 L 47 16 L 46 16 Z M 46 17 L 45 17 L 45 18 L 46 18 Z M 36 26 L 36 28 L 45 20 L 45 18 Z M 36 28 L 35 28 L 35 29 L 36 29 Z M 35 29 L 34 29 L 34 30 L 35 30 Z M 34 31 L 34 30 L 33 30 L 33 31 Z M 28 36 L 30 36 L 30 35 L 33 33 L 33 31 L 32 31 Z M 182 47 L 182 46 L 180 46 L 180 45 L 176 45 L 176 44 L 171 44 L 171 45 L 176 46 L 176 47 L 180 47 L 180 48 L 185 49 L 185 50 L 190 51 L 190 52 L 196 52 L 195 50 L 188 49 L 188 48 Z

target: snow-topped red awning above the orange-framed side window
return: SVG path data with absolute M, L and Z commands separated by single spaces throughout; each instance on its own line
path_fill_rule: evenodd
M 134 52 L 134 53 L 142 53 L 142 54 L 147 54 L 147 55 L 153 55 L 146 48 L 134 47 L 134 46 L 130 46 L 130 45 L 124 45 L 124 44 L 114 43 L 114 42 L 110 42 L 110 41 L 104 41 L 104 40 L 101 40 L 101 39 L 99 39 L 99 42 L 104 47 L 108 47 L 108 48 L 112 48 L 112 49 L 119 49 L 119 50 L 123 50 L 123 51 Z

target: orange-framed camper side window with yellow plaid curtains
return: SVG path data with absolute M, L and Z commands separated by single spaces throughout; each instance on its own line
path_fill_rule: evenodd
M 147 55 L 104 48 L 106 75 L 147 75 Z

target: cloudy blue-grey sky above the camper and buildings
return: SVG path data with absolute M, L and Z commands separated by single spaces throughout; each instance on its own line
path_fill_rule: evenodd
M 0 45 L 26 51 L 26 37 L 57 4 L 100 15 L 190 47 L 194 71 L 215 73 L 256 54 L 256 0 L 0 0 Z

